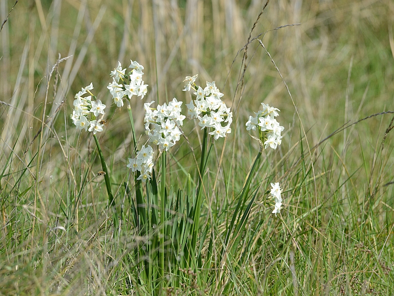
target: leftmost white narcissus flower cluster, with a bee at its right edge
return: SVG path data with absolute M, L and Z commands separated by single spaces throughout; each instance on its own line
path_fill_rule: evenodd
M 75 94 L 73 102 L 74 110 L 71 114 L 72 122 L 77 129 L 89 130 L 96 135 L 102 132 L 101 119 L 104 116 L 105 105 L 92 94 L 93 83 L 82 87 L 81 91 Z M 89 94 L 89 96 L 85 96 Z

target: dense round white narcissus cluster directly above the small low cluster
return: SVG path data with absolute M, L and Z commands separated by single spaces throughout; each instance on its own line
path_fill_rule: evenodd
M 156 109 L 150 107 L 154 102 L 144 104 L 145 133 L 150 142 L 158 145 L 160 151 L 167 151 L 181 138 L 179 126 L 183 125 L 186 116 L 181 114 L 182 102 L 175 98 L 168 105 L 164 103 Z

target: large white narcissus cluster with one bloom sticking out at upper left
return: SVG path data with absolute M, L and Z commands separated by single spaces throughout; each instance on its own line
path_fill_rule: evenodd
M 206 82 L 206 87 L 197 86 L 197 75 L 187 76 L 184 91 L 195 90 L 196 100 L 186 105 L 188 117 L 197 118 L 201 129 L 209 129 L 215 140 L 225 138 L 231 133 L 232 112 L 221 100 L 223 94 L 216 87 L 215 81 Z

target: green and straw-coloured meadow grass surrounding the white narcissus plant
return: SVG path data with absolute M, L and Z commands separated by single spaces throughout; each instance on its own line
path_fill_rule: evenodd
M 14 3 L 1 1 L 1 20 Z M 264 4 L 16 3 L 0 32 L 0 295 L 393 295 L 394 3 L 278 0 L 257 20 Z M 187 75 L 216 80 L 234 118 L 204 174 L 204 265 L 170 270 L 153 290 L 138 278 L 135 250 L 149 238 L 133 227 L 135 196 L 124 186 L 129 115 L 112 106 L 98 134 L 118 235 L 95 140 L 69 117 L 91 81 L 113 104 L 109 72 L 130 59 L 149 84 L 147 98 L 131 101 L 140 143 L 143 103 L 189 103 Z M 283 143 L 263 151 L 238 245 L 223 253 L 259 151 L 245 122 L 261 102 L 281 110 Z M 193 122 L 183 130 L 189 142 L 168 156 L 171 194 L 188 174 L 198 182 L 203 135 Z M 284 189 L 278 217 L 266 202 L 270 182 Z

